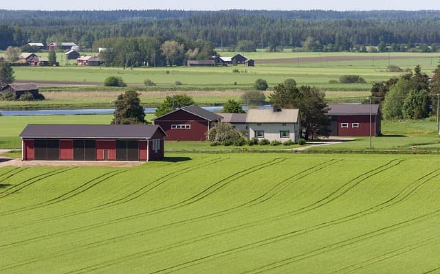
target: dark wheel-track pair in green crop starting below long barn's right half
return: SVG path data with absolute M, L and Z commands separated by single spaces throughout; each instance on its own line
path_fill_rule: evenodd
M 27 210 L 45 207 L 47 205 L 54 205 L 55 203 L 60 203 L 60 202 L 65 201 L 69 198 L 72 198 L 78 194 L 81 194 L 81 193 L 91 189 L 91 187 L 94 187 L 94 186 L 98 185 L 99 183 L 102 183 L 103 181 L 106 181 L 107 179 L 110 179 L 111 177 L 116 176 L 116 175 L 123 173 L 123 172 L 126 172 L 126 171 L 125 170 L 113 170 L 111 172 L 101 174 L 100 176 L 97 176 L 94 179 L 91 179 L 91 180 L 83 183 L 82 185 L 74 188 L 73 190 L 70 190 L 69 192 L 62 194 L 61 196 L 58 196 L 56 198 L 52 198 L 52 199 L 45 201 L 45 202 L 42 202 L 42 203 L 38 203 L 36 205 L 30 205 L 28 207 L 21 207 L 18 209 L 12 209 L 8 212 L 0 212 L 0 216 L 15 214 L 18 212 L 24 212 Z

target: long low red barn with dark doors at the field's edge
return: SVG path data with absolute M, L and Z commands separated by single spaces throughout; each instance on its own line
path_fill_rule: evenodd
M 164 157 L 160 126 L 29 124 L 23 160 L 152 161 Z

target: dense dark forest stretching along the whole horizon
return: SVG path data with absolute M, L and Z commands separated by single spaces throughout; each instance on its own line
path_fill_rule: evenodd
M 215 47 L 241 41 L 263 48 L 303 47 L 308 41 L 309 50 L 330 52 L 381 44 L 404 51 L 423 44 L 421 51 L 428 51 L 440 43 L 440 11 L 0 10 L 0 49 L 53 41 L 92 48 L 104 38 L 135 37 L 199 39 Z

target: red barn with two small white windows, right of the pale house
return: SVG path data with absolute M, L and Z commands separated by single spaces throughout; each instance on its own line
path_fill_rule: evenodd
M 369 136 L 369 104 L 329 104 L 331 117 L 331 136 Z M 378 104 L 371 105 L 371 135 L 379 136 L 381 131 L 381 113 Z

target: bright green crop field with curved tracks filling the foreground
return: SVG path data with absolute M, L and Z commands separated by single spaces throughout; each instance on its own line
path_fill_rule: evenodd
M 436 157 L 167 156 L 0 168 L 0 273 L 440 270 Z

